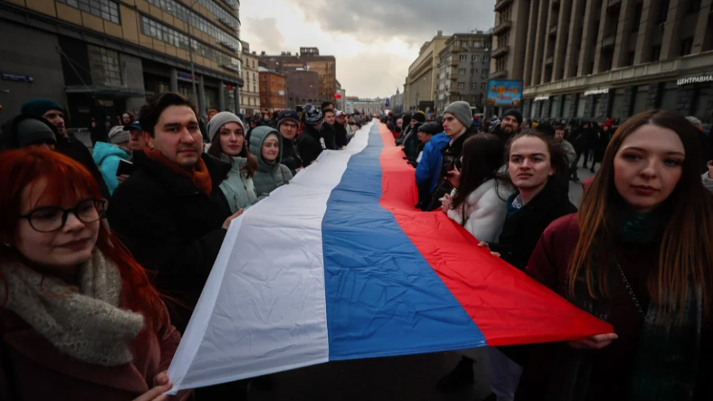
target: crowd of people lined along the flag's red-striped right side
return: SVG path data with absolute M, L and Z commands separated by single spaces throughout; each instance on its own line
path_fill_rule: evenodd
M 713 143 L 701 121 L 658 110 L 602 124 L 517 109 L 478 117 L 463 101 L 442 116 L 382 117 L 416 168 L 416 207 L 446 213 L 614 328 L 489 347 L 486 400 L 712 400 Z M 578 210 L 568 190 L 581 158 L 596 174 Z M 474 363 L 464 355 L 438 389 L 473 385 Z

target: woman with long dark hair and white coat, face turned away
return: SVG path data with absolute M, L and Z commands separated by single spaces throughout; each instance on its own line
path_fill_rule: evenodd
M 507 215 L 505 200 L 513 192 L 498 169 L 503 164 L 505 144 L 491 133 L 479 133 L 463 143 L 463 169 L 451 179 L 453 192 L 441 206 L 448 218 L 478 240 L 498 238 Z

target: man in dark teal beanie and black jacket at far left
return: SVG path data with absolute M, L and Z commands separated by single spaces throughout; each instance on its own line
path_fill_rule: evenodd
M 106 199 L 110 198 L 109 190 L 106 187 L 106 183 L 104 183 L 99 168 L 96 166 L 96 163 L 94 163 L 91 153 L 89 153 L 89 149 L 84 143 L 68 135 L 64 123 L 64 108 L 62 108 L 59 103 L 50 99 L 35 98 L 23 103 L 21 112 L 44 118 L 55 126 L 59 134 L 57 136 L 56 151 L 62 153 L 64 156 L 73 158 L 86 167 L 99 184 L 102 196 Z

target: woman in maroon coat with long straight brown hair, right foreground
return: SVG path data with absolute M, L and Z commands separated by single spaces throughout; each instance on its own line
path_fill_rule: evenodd
M 698 159 L 677 114 L 619 128 L 579 213 L 545 230 L 526 268 L 615 333 L 538 346 L 518 399 L 713 399 L 713 203 Z

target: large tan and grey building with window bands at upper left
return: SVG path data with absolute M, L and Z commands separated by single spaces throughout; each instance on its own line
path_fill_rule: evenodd
M 0 0 L 0 103 L 52 98 L 73 127 L 138 111 L 152 93 L 240 105 L 237 0 Z M 195 74 L 191 71 L 191 59 Z

